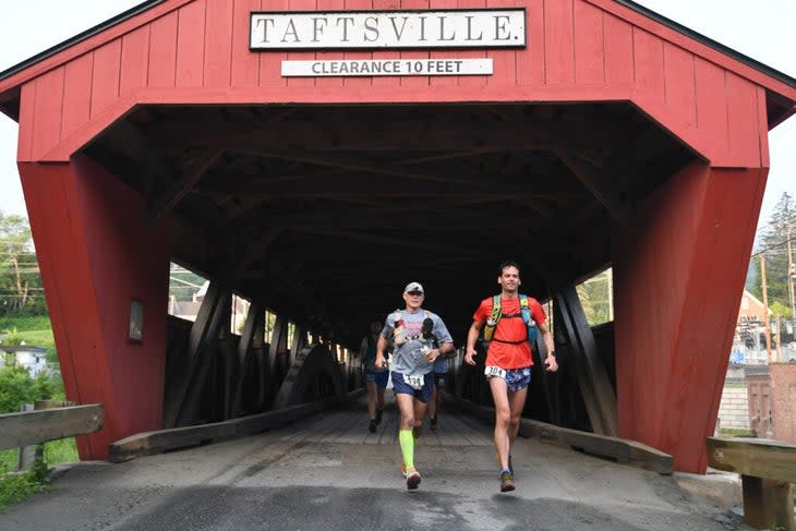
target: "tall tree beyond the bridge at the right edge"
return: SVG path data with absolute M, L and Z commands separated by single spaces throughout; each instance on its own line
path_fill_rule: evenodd
M 769 306 L 783 311 L 783 317 L 791 318 L 791 297 L 788 292 L 787 242 L 796 250 L 796 202 L 784 192 L 774 207 L 769 224 L 762 229 L 757 251 L 752 255 L 751 271 L 747 278 L 747 290 L 762 300 L 760 254 L 765 257 L 765 283 Z

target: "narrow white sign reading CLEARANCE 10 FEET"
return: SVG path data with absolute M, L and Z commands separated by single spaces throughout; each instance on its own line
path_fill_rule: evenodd
M 355 75 L 490 75 L 492 59 L 347 59 L 282 61 L 286 77 Z

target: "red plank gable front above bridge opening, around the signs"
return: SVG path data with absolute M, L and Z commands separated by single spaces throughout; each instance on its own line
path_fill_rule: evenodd
M 579 88 L 583 99 L 631 98 L 662 125 L 711 159 L 714 166 L 756 167 L 767 159 L 762 153 L 767 149 L 767 128 L 760 120 L 755 83 L 716 65 L 714 57 L 707 60 L 689 51 L 684 46 L 689 41 L 682 36 L 662 38 L 661 34 L 672 32 L 662 31 L 660 24 L 627 16 L 632 21 L 630 23 L 615 14 L 623 10 L 614 7 L 614 13 L 605 12 L 603 4 L 603 0 L 276 0 L 265 4 L 262 0 L 174 0 L 171 11 L 158 10 L 154 13 L 157 16 L 143 13 L 136 17 L 141 21 L 137 25 L 130 21 L 125 23 L 126 32 L 100 41 L 87 55 L 72 57 L 65 67 L 58 67 L 26 83 L 37 84 L 36 106 L 47 106 L 47 114 L 34 114 L 39 116 L 38 119 L 26 114 L 21 119 L 24 126 L 27 126 L 25 119 L 35 120 L 37 133 L 35 138 L 21 140 L 29 144 L 21 145 L 20 160 L 36 160 L 79 132 L 80 121 L 85 120 L 86 101 L 89 102 L 89 117 L 95 119 L 130 90 L 137 90 L 135 94 L 141 98 L 145 88 L 225 88 L 228 102 L 298 100 L 294 97 L 298 93 L 293 90 L 269 90 L 267 97 L 240 90 L 255 85 L 263 88 L 334 88 L 340 97 L 348 90 L 375 86 L 407 90 L 438 87 L 438 92 L 426 97 L 430 101 L 457 99 L 445 94 L 457 87 L 472 87 L 483 99 L 497 100 L 505 97 L 502 87 L 526 86 L 528 99 L 536 100 L 570 100 L 571 95 L 556 89 Z M 526 49 L 431 52 L 431 57 L 491 57 L 494 61 L 491 76 L 284 79 L 280 65 L 286 58 L 427 58 L 430 52 L 255 53 L 248 50 L 249 13 L 257 9 L 510 5 L 528 10 Z M 100 39 L 99 36 L 95 38 Z M 91 67 L 87 57 L 92 57 Z M 87 79 L 91 79 L 91 85 L 81 86 Z M 498 92 L 490 98 L 489 93 L 483 92 L 484 87 Z M 376 93 L 365 94 L 365 98 L 370 96 L 376 101 Z M 62 98 L 60 102 L 59 98 Z M 203 96 L 196 93 L 193 98 L 185 102 L 202 102 Z M 391 97 L 399 101 L 409 98 L 406 92 Z

